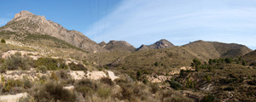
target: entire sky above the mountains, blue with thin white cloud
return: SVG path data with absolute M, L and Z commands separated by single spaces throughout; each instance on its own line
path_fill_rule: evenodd
M 196 40 L 256 48 L 255 0 L 4 1 L 0 26 L 20 10 L 44 15 L 96 42 L 124 40 L 135 47 L 165 38 L 175 45 Z M 108 2 L 108 13 L 107 11 Z M 90 19 L 90 7 L 91 16 Z

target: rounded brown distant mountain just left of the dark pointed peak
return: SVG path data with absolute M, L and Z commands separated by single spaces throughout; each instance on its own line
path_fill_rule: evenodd
M 130 43 L 125 41 L 109 41 L 104 47 L 109 51 L 123 51 L 123 52 L 134 52 L 136 48 L 134 48 Z

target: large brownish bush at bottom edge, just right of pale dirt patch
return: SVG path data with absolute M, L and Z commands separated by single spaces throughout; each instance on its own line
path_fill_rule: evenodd
M 46 82 L 43 87 L 39 88 L 39 91 L 34 92 L 33 97 L 37 102 L 73 102 L 76 99 L 75 94 L 63 89 L 63 86 L 57 82 Z

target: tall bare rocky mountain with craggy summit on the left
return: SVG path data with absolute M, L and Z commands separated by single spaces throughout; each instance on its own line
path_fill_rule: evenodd
M 6 26 L 2 26 L 0 31 L 12 31 L 19 34 L 30 33 L 35 35 L 49 35 L 68 42 L 87 52 L 108 51 L 101 48 L 96 42 L 90 40 L 88 37 L 85 37 L 81 32 L 69 31 L 51 20 L 46 20 L 44 15 L 35 15 L 26 10 L 22 10 L 20 13 L 15 14 L 15 18 L 10 20 Z

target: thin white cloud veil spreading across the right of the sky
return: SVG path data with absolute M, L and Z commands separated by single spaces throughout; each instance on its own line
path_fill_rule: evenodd
M 176 45 L 201 39 L 256 46 L 255 18 L 253 0 L 123 0 L 108 14 L 105 33 L 103 18 L 84 34 L 96 42 L 125 40 L 136 47 L 161 38 Z

